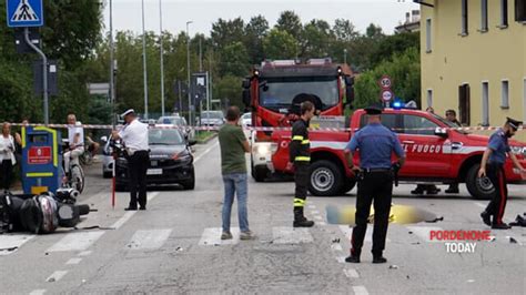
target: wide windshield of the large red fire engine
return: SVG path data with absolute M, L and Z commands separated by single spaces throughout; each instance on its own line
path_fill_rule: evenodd
M 318 96 L 323 110 L 336 105 L 340 101 L 335 77 L 269 79 L 260 83 L 265 83 L 260 88 L 260 104 L 269 109 L 290 108 L 294 96 L 300 93 Z

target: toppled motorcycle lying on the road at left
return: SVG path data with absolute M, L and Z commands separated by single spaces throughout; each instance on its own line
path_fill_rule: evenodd
M 49 234 L 59 226 L 74 227 L 90 212 L 89 205 L 75 205 L 77 196 L 73 189 L 59 189 L 55 194 L 0 194 L 0 234 Z

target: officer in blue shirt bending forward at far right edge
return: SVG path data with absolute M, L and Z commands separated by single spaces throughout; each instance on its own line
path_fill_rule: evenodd
M 510 226 L 503 222 L 504 210 L 506 208 L 506 201 L 508 199 L 508 190 L 506 187 L 506 175 L 504 174 L 504 163 L 506 162 L 506 153 L 512 159 L 512 162 L 520 173 L 526 170 L 517 161 L 517 157 L 512 153 L 508 144 L 508 139 L 515 135 L 518 126 L 523 122 L 507 118 L 504 128 L 497 130 L 490 138 L 484 152 L 481 169 L 478 170 L 478 177 L 486 176 L 492 181 L 495 187 L 495 194 L 487 205 L 486 210 L 481 213 L 483 222 L 492 226 L 494 230 L 508 230 Z M 493 222 L 492 222 L 493 216 Z

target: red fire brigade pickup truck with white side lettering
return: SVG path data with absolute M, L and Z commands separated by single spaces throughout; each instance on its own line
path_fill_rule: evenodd
M 417 110 L 385 109 L 382 123 L 394 130 L 405 150 L 407 160 L 398 173 L 406 183 L 466 183 L 475 199 L 490 197 L 494 187 L 489 180 L 478 179 L 477 172 L 488 136 L 457 131 L 443 118 Z M 344 149 L 351 136 L 366 125 L 364 110 L 353 113 L 351 131 L 311 131 L 311 177 L 308 190 L 314 195 L 344 194 L 355 185 L 353 172 L 347 167 Z M 289 162 L 290 131 L 272 134 L 273 172 L 286 171 Z M 526 144 L 509 141 L 513 152 L 526 166 Z M 358 163 L 356 153 L 355 163 Z M 505 165 L 508 183 L 524 183 L 519 171 L 508 160 Z

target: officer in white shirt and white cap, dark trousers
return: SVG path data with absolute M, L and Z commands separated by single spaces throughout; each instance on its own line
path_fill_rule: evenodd
M 130 182 L 130 205 L 124 208 L 134 211 L 146 210 L 146 171 L 150 164 L 148 146 L 148 125 L 141 123 L 133 109 L 121 114 L 125 125 L 117 132 L 113 131 L 113 139 L 121 139 L 127 151 L 128 175 Z M 139 197 L 138 197 L 139 191 Z

